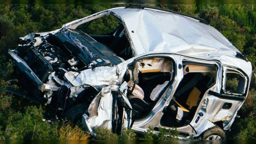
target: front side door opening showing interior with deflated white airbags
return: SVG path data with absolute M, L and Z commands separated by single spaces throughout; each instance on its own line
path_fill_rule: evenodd
M 128 67 L 126 78 L 130 86 L 128 100 L 134 111 L 132 117 L 141 119 L 147 115 L 172 79 L 172 59 L 153 57 L 138 60 Z

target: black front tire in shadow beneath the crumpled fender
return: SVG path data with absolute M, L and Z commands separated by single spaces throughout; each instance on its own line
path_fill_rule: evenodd
M 63 112 L 62 118 L 66 118 L 69 121 L 77 122 L 82 119 L 84 112 L 88 109 L 88 103 L 77 104 Z

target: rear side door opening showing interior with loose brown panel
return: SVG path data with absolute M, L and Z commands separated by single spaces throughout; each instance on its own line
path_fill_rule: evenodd
M 217 67 L 184 62 L 183 75 L 169 106 L 164 109 L 162 126 L 181 127 L 191 122 L 204 93 L 216 81 Z

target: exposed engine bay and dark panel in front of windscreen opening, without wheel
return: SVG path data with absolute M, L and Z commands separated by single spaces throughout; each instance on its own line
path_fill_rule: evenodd
M 66 71 L 79 72 L 99 66 L 112 66 L 123 61 L 104 44 L 85 33 L 67 30 L 56 35 L 35 37 L 14 50 L 45 83 L 51 72 L 63 77 Z

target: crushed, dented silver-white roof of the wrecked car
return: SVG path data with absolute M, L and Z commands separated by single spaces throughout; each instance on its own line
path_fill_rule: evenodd
M 146 52 L 177 52 L 215 59 L 243 69 L 249 76 L 251 63 L 236 57 L 236 47 L 218 30 L 199 20 L 172 12 L 144 8 L 109 10 L 125 23 L 136 55 Z

